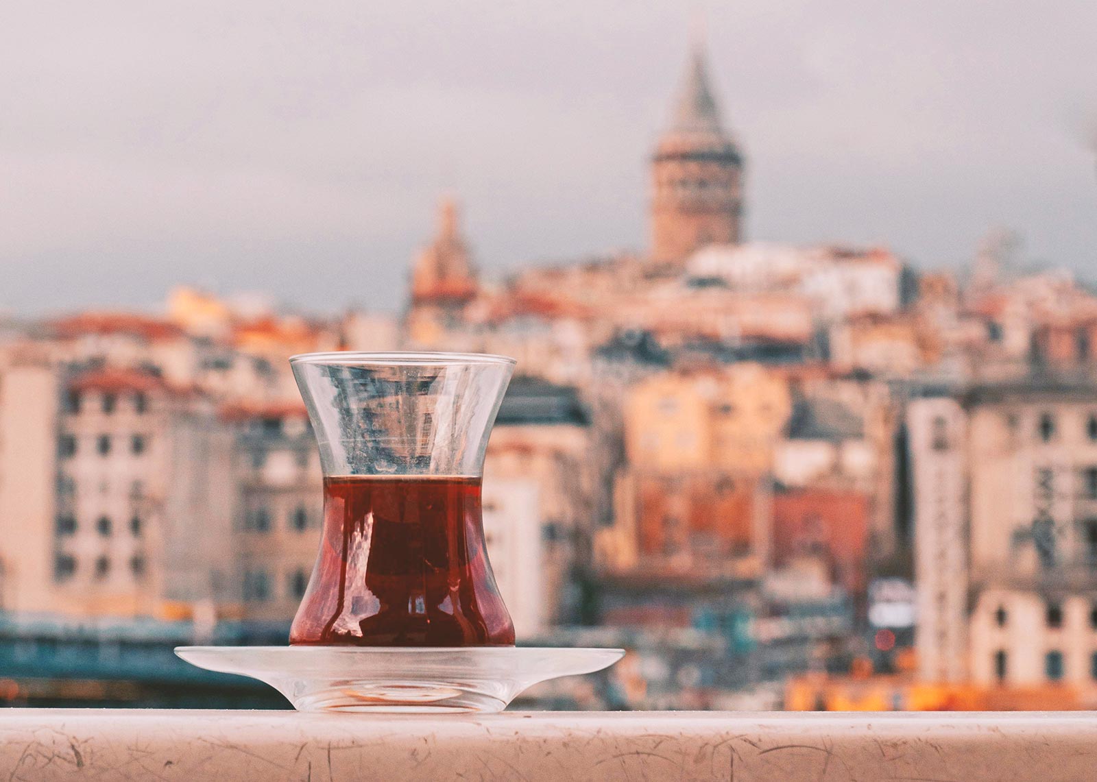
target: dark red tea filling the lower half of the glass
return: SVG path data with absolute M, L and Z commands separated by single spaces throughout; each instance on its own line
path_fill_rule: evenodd
M 324 479 L 316 569 L 293 645 L 512 646 L 488 567 L 480 479 Z

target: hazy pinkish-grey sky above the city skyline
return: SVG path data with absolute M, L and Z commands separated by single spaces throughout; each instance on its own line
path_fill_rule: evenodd
M 748 235 L 1097 276 L 1093 0 L 703 8 Z M 646 242 L 681 2 L 9 0 L 0 308 L 178 282 L 396 308 L 445 192 L 489 271 Z M 1089 117 L 1089 120 L 1087 120 Z

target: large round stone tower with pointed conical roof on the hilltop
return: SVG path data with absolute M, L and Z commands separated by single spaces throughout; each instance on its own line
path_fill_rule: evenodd
M 743 238 L 743 155 L 720 122 L 704 49 L 694 45 L 670 127 L 652 160 L 652 260 Z

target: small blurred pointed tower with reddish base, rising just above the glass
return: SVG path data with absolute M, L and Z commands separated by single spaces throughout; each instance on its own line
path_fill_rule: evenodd
M 476 272 L 457 225 L 456 204 L 444 199 L 439 207 L 438 234 L 411 269 L 411 306 L 406 322 L 409 339 L 422 344 L 442 339 L 461 320 L 477 291 Z

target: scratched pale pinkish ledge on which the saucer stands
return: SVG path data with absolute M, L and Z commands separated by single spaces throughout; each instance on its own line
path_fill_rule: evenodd
M 0 710 L 2 780 L 1097 781 L 1097 714 Z

